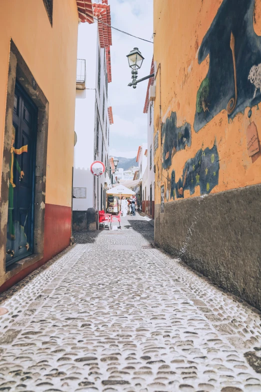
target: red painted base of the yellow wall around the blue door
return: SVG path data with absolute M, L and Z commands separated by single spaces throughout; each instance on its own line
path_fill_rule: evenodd
M 45 204 L 44 214 L 44 250 L 43 258 L 22 269 L 0 286 L 0 293 L 8 290 L 15 283 L 24 279 L 32 271 L 67 248 L 71 236 L 71 208 L 54 204 Z

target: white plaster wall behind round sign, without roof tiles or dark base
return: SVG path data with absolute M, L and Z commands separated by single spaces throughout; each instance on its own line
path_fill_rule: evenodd
M 100 54 L 101 66 L 100 92 L 98 92 L 98 53 Z M 85 199 L 73 198 L 73 211 L 87 211 L 88 208 L 100 209 L 100 186 L 102 185 L 102 189 L 104 189 L 106 184 L 110 182 L 108 174 L 104 173 L 98 178 L 98 188 L 97 178 L 95 177 L 94 189 L 94 178 L 90 172 L 90 165 L 94 160 L 102 160 L 108 167 L 109 121 L 105 91 L 104 56 L 105 50 L 100 49 L 99 45 L 97 23 L 79 25 L 77 58 L 85 59 L 86 81 L 85 90 L 76 90 L 75 132 L 77 134 L 77 143 L 74 147 L 73 187 L 86 188 L 87 197 Z M 102 119 L 103 95 L 105 97 L 104 121 Z M 97 111 L 99 113 L 99 147 L 98 151 L 95 152 Z M 101 157 L 102 143 L 103 157 Z M 103 197 L 104 193 L 102 194 L 102 199 Z M 78 215 L 76 213 L 74 215 L 76 222 Z

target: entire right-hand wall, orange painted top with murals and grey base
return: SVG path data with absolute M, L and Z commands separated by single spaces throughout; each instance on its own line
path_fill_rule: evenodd
M 260 16 L 154 0 L 155 241 L 259 308 Z

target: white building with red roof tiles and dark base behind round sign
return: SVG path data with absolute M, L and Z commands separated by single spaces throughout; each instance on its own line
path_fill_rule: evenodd
M 109 169 L 109 126 L 113 123 L 108 106 L 111 82 L 110 7 L 107 0 L 93 4 L 94 23 L 78 27 L 75 134 L 73 167 L 73 229 L 95 229 L 95 213 L 105 210 L 111 172 L 93 176 L 91 163 L 101 161 Z M 104 19 L 105 18 L 105 19 Z M 96 21 L 96 19 L 98 21 Z

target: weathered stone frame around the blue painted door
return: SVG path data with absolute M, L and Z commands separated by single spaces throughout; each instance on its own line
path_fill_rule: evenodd
M 37 107 L 36 153 L 34 171 L 33 254 L 5 268 L 5 246 L 8 215 L 9 160 L 12 135 L 12 111 L 16 80 Z M 43 257 L 46 157 L 49 103 L 38 86 L 14 42 L 10 40 L 6 110 L 1 173 L 0 199 L 0 285 L 20 270 Z

